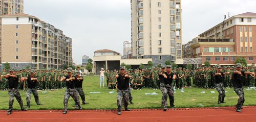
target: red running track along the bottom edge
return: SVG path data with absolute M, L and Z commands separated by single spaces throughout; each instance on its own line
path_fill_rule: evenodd
M 235 107 L 181 108 L 181 109 L 133 109 L 122 110 L 7 110 L 0 111 L 0 121 L 256 121 L 256 106 L 247 106 L 236 112 Z

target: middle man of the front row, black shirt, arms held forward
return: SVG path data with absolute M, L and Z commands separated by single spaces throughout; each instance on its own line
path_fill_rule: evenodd
M 129 79 L 130 75 L 125 75 L 125 66 L 120 66 L 120 74 L 116 75 L 117 79 L 117 109 L 118 115 L 121 115 L 122 97 L 125 111 L 131 111 L 128 107 L 129 104 Z

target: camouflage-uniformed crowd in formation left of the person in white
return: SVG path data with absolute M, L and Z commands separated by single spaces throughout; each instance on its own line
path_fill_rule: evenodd
M 79 70 L 79 67 L 78 67 Z M 19 70 L 14 70 L 15 75 L 19 76 L 18 79 L 18 89 L 19 90 L 24 90 L 27 91 L 27 80 L 23 80 L 22 78 L 27 78 L 30 76 L 30 71 L 31 68 L 26 68 L 19 69 Z M 38 84 L 37 84 L 37 91 L 41 90 L 58 90 L 62 88 L 66 88 L 66 82 L 60 82 L 60 79 L 63 78 L 64 76 L 68 75 L 67 69 L 63 70 L 57 70 L 57 69 L 34 69 L 35 71 L 35 77 L 38 78 Z M 81 73 L 81 71 L 79 70 Z M 73 72 L 74 75 L 75 72 Z M 6 68 L 1 71 L 1 81 L 0 81 L 0 89 L 2 91 L 8 90 L 8 85 L 9 85 L 9 80 L 4 78 L 4 75 L 10 74 L 10 71 L 7 70 Z

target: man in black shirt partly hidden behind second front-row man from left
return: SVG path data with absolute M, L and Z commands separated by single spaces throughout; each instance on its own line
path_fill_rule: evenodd
M 75 82 L 75 87 L 76 87 L 76 93 L 77 93 L 77 97 L 79 100 L 79 95 L 81 96 L 82 99 L 82 104 L 89 104 L 86 102 L 86 96 L 84 95 L 83 89 L 82 89 L 82 81 L 83 81 L 83 77 L 80 76 L 80 71 L 77 70 L 76 72 L 76 82 Z M 75 103 L 75 108 L 78 108 L 77 104 Z

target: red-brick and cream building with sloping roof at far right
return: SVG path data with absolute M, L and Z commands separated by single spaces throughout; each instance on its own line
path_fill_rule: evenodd
M 237 57 L 247 64 L 256 62 L 256 13 L 243 13 L 225 19 L 193 39 L 192 58 L 211 65 L 234 65 Z M 204 64 L 202 64 L 204 65 Z

